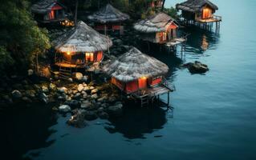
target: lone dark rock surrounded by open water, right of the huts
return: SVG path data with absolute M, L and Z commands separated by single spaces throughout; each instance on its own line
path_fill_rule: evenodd
M 186 67 L 189 69 L 189 72 L 191 74 L 204 74 L 205 72 L 209 71 L 209 68 L 207 65 L 202 64 L 201 62 L 195 61 L 189 62 L 184 64 L 182 67 Z

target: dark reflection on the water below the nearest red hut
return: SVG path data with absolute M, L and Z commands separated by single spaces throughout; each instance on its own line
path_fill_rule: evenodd
M 159 106 L 128 106 L 122 117 L 109 119 L 110 123 L 105 126 L 105 129 L 111 134 L 116 132 L 123 134 L 128 139 L 145 138 L 144 134 L 152 134 L 163 128 L 167 122 L 167 113 L 168 110 Z

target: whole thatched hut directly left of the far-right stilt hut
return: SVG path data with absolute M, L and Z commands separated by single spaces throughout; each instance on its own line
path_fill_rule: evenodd
M 136 22 L 134 29 L 140 32 L 140 38 L 147 42 L 177 46 L 185 42 L 185 38 L 177 36 L 177 21 L 164 12 Z

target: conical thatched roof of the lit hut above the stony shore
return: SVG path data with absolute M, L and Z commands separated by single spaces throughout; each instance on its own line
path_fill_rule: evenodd
M 95 52 L 108 50 L 112 40 L 80 21 L 74 30 L 63 34 L 53 44 L 59 52 Z

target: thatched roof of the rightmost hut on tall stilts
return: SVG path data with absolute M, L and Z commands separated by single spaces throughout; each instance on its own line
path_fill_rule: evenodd
M 218 10 L 218 7 L 214 5 L 212 2 L 209 2 L 208 0 L 188 0 L 186 2 L 182 2 L 176 5 L 176 8 L 178 10 L 185 10 L 189 12 L 198 12 L 202 10 L 202 7 L 208 5 L 213 10 Z

